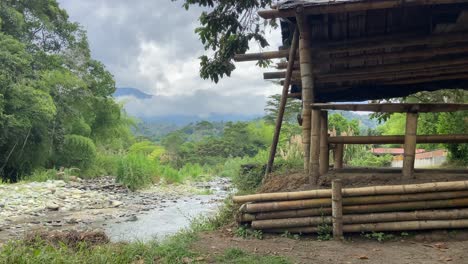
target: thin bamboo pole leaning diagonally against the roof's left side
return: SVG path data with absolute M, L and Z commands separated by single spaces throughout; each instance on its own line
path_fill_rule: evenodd
M 281 102 L 280 102 L 279 109 L 278 109 L 278 117 L 276 118 L 275 134 L 273 135 L 273 142 L 271 144 L 271 149 L 270 149 L 270 157 L 268 159 L 265 174 L 268 174 L 272 171 L 273 163 L 275 161 L 276 148 L 278 147 L 281 126 L 283 124 L 284 111 L 285 111 L 286 103 L 288 100 L 289 85 L 291 83 L 291 76 L 292 76 L 292 71 L 294 67 L 294 60 L 296 57 L 295 55 L 296 55 L 298 43 L 299 43 L 299 30 L 296 28 L 296 30 L 294 31 L 294 36 L 293 36 L 293 40 L 292 40 L 291 48 L 289 52 L 288 69 L 286 71 L 286 79 L 284 80 L 284 84 L 283 84 L 283 92 L 281 95 Z

